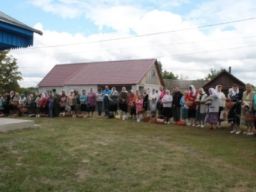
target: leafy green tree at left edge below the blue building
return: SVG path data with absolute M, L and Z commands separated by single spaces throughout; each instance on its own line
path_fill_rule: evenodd
M 17 60 L 12 55 L 8 55 L 9 51 L 0 51 L 0 92 L 10 92 L 20 90 L 18 81 L 22 79 Z

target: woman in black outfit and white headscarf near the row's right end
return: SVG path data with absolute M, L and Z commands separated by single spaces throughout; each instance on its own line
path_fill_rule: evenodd
M 237 84 L 234 84 L 232 88 L 232 93 L 230 94 L 230 101 L 233 103 L 232 108 L 228 113 L 228 123 L 231 124 L 232 131 L 230 133 L 236 132 L 240 134 L 240 118 L 241 118 L 241 104 L 242 104 L 243 94 L 239 92 Z

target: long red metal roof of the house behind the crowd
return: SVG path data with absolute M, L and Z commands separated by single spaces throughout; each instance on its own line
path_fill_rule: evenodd
M 156 59 L 56 65 L 38 86 L 138 84 Z

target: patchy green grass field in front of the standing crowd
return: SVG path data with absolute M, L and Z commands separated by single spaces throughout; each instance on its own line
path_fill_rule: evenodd
M 256 191 L 256 138 L 227 128 L 35 123 L 42 127 L 0 134 L 0 191 Z

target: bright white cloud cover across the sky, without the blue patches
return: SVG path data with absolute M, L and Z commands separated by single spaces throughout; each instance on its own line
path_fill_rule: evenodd
M 36 4 L 37 2 L 37 4 Z M 44 4 L 52 6 L 51 1 L 35 1 L 36 6 Z M 88 1 L 74 1 L 79 6 L 74 6 L 74 2 L 68 0 L 61 0 L 59 3 L 71 4 L 70 9 L 72 12 L 79 9 L 81 6 L 86 7 Z M 104 2 L 101 0 L 100 3 Z M 109 1 L 108 1 L 109 2 Z M 134 1 L 131 0 L 133 3 Z M 153 1 L 151 1 L 153 2 Z M 177 1 L 178 2 L 178 1 Z M 219 0 L 214 3 L 204 3 L 198 6 L 198 10 L 191 12 L 189 17 L 202 17 L 205 11 L 211 10 L 212 14 L 221 14 L 227 12 L 234 12 L 239 9 L 241 3 L 237 1 L 232 6 L 228 6 L 227 1 L 221 6 Z M 231 1 L 228 1 L 229 4 Z M 248 6 L 251 8 L 253 1 L 246 1 L 243 4 L 246 9 Z M 124 1 L 123 1 L 124 3 Z M 125 1 L 129 4 L 129 0 Z M 61 31 L 50 31 L 44 29 L 44 24 L 36 24 L 35 28 L 44 31 L 43 36 L 35 35 L 34 47 L 49 46 L 49 45 L 63 45 L 63 44 L 76 44 L 81 42 L 92 42 L 113 38 L 121 38 L 124 36 L 132 36 L 129 34 L 129 29 L 132 29 L 137 35 L 145 35 L 148 33 L 158 33 L 163 31 L 172 31 L 175 29 L 194 28 L 201 25 L 199 22 L 182 21 L 182 15 L 173 14 L 168 11 L 160 10 L 145 10 L 139 6 L 132 6 L 132 3 L 125 6 L 120 5 L 120 1 L 113 1 L 115 6 L 95 6 L 95 8 L 88 8 L 86 11 L 86 18 L 92 20 L 99 28 L 108 26 L 116 30 L 112 33 L 95 33 L 90 36 L 82 34 L 72 35 L 70 33 L 63 33 Z M 154 2 L 153 2 L 154 3 Z M 248 4 L 249 5 L 248 5 Z M 47 7 L 49 8 L 49 6 Z M 48 10 L 51 11 L 51 10 Z M 60 11 L 60 10 L 59 10 Z M 75 11 L 74 11 L 75 12 Z M 83 11 L 84 12 L 84 11 Z M 81 12 L 77 13 L 80 14 Z M 59 13 L 56 13 L 59 14 Z M 72 14 L 71 14 L 72 15 Z M 108 17 L 106 16 L 108 15 Z M 72 17 L 77 17 L 74 14 Z M 252 17 L 252 12 L 246 12 L 245 16 L 228 15 L 228 20 L 238 20 L 243 18 Z M 215 22 L 225 22 L 225 18 L 217 18 Z M 207 23 L 208 24 L 208 23 Z M 170 56 L 175 54 L 184 54 L 191 52 L 212 51 L 217 49 L 228 49 L 231 47 L 241 47 L 246 45 L 256 44 L 256 38 L 241 38 L 236 40 L 222 40 L 210 41 L 216 39 L 236 38 L 242 36 L 253 36 L 255 33 L 255 20 L 246 22 L 237 22 L 230 24 L 236 28 L 234 31 L 223 31 L 226 26 L 216 26 L 209 28 L 207 35 L 198 29 L 188 31 L 178 31 L 175 33 L 165 33 L 161 35 L 144 36 L 139 38 L 129 38 L 124 40 L 113 40 L 108 42 L 99 42 L 93 44 L 79 44 L 70 46 L 51 47 L 44 49 L 19 49 L 12 51 L 11 54 L 18 59 L 19 67 L 24 74 L 24 84 L 35 85 L 39 83 L 40 79 L 51 70 L 51 68 L 58 63 L 76 63 L 84 61 L 108 61 L 108 60 L 127 60 L 127 59 L 140 59 L 140 58 L 156 58 L 158 56 Z M 180 42 L 197 42 L 193 44 L 177 44 Z M 158 47 L 146 47 L 152 45 L 162 44 L 177 44 L 166 45 Z M 132 49 L 124 49 L 132 47 Z M 119 49 L 102 51 L 106 49 Z M 256 70 L 255 65 L 255 48 L 248 47 L 243 49 L 234 49 L 228 51 L 208 52 L 202 54 L 191 54 L 186 56 L 175 57 L 161 57 L 158 58 L 163 63 L 166 70 L 172 71 L 174 74 L 183 74 L 188 76 L 189 79 L 202 79 L 209 73 L 209 68 L 216 68 L 219 70 L 221 67 L 228 69 L 232 67 L 232 72 L 244 83 L 256 84 L 253 78 L 252 70 Z M 72 53 L 72 54 L 70 54 Z M 41 68 L 35 68 L 35 67 Z M 28 67 L 28 68 L 24 68 Z M 31 67 L 31 68 L 29 68 Z

